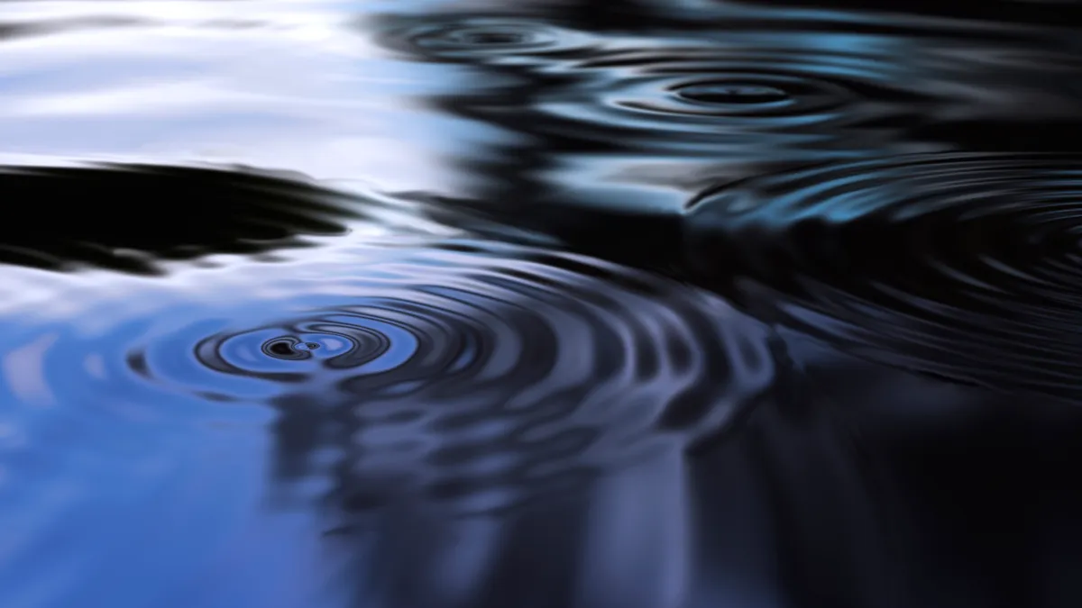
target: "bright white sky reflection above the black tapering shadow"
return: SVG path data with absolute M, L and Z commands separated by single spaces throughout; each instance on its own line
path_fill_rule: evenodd
M 470 70 L 404 71 L 357 35 L 358 9 L 370 6 L 6 2 L 0 22 L 64 27 L 0 44 L 3 151 L 239 162 L 454 188 L 435 155 L 462 155 L 496 135 L 417 111 L 414 97 L 461 88 Z M 117 23 L 103 27 L 103 16 Z

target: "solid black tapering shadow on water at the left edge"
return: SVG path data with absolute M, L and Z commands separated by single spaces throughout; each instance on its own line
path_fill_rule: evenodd
M 364 216 L 361 201 L 294 175 L 196 167 L 8 166 L 0 199 L 0 261 L 62 270 L 155 274 L 166 260 L 300 247 Z

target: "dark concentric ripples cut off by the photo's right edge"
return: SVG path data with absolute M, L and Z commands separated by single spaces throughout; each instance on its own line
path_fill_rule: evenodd
M 1077 396 L 1080 167 L 913 155 L 754 177 L 694 201 L 692 257 L 735 273 L 728 289 L 769 314 L 861 352 Z

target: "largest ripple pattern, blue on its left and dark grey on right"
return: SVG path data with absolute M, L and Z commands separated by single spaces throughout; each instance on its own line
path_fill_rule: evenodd
M 51 466 L 93 451 L 74 415 L 137 436 L 254 431 L 276 412 L 276 500 L 467 515 L 717 437 L 774 376 L 764 326 L 652 275 L 470 241 L 339 253 L 172 280 L 100 275 L 36 302 L 6 333 L 18 369 L 4 409 L 66 429 Z M 138 445 L 153 461 L 171 444 Z

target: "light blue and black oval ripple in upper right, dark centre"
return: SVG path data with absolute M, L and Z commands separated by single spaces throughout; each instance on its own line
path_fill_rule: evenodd
M 562 136 L 713 155 L 855 146 L 859 133 L 920 123 L 913 110 L 938 101 L 901 85 L 896 78 L 916 76 L 874 45 L 823 52 L 768 32 L 734 39 L 744 42 L 596 53 L 575 65 L 581 84 L 542 93 L 537 110 Z

